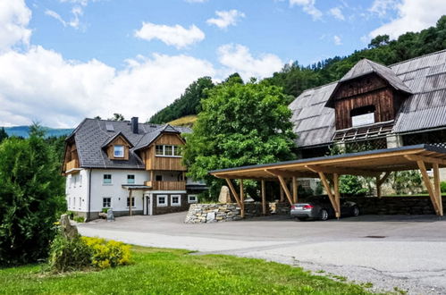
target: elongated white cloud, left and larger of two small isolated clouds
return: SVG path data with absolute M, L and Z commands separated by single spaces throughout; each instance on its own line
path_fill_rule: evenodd
M 143 22 L 141 29 L 135 31 L 135 37 L 147 41 L 157 38 L 169 46 L 183 48 L 203 40 L 205 33 L 195 25 L 191 25 L 189 29 L 186 29 L 181 25 L 171 27 Z

